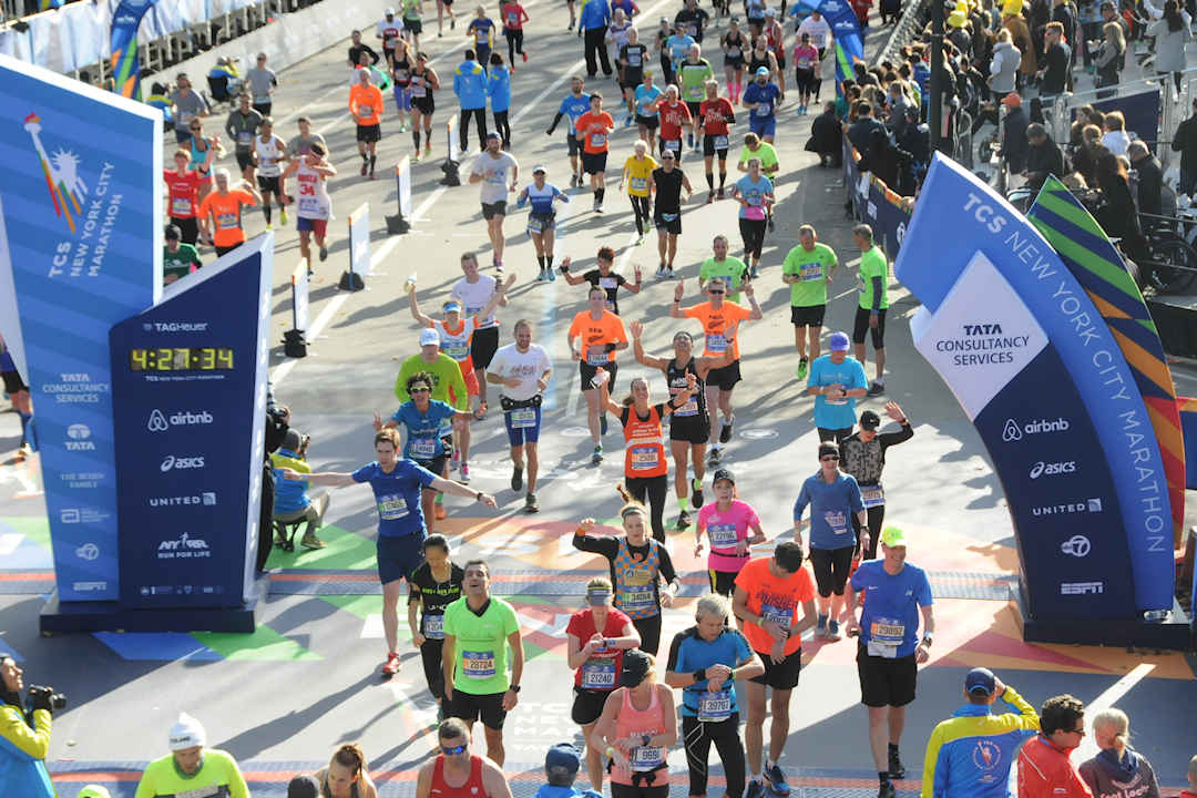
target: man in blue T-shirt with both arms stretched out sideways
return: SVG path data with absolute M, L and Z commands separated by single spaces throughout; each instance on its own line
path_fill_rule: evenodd
M 317 471 L 299 474 L 282 469 L 287 480 L 306 480 L 311 485 L 330 487 L 369 482 L 378 507 L 378 578 L 382 580 L 382 627 L 387 639 L 387 662 L 383 676 L 399 672 L 399 592 L 400 580 L 407 579 L 424 561 L 424 512 L 419 493 L 424 488 L 449 492 L 494 507 L 494 497 L 452 480 L 445 480 L 409 459 L 399 457 L 399 432 L 382 430 L 375 433 L 375 453 L 378 459 L 352 474 Z

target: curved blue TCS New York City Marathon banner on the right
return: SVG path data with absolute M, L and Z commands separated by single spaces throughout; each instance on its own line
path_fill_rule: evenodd
M 1044 237 L 936 154 L 894 264 L 915 345 L 994 461 L 1029 610 L 1172 608 L 1171 513 L 1150 416 L 1113 334 Z

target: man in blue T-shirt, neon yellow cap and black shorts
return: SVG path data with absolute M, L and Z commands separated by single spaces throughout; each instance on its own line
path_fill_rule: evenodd
M 915 700 L 918 665 L 930 656 L 935 616 L 926 572 L 906 562 L 906 535 L 897 526 L 888 526 L 881 532 L 881 560 L 862 562 L 852 574 L 847 590 L 852 617 L 846 631 L 849 636 L 861 635 L 856 670 L 861 678 L 861 703 L 869 708 L 869 743 L 881 782 L 877 796 L 893 798 L 892 780 L 906 776 L 898 755 L 906 705 Z M 857 593 L 864 602 L 859 621 Z

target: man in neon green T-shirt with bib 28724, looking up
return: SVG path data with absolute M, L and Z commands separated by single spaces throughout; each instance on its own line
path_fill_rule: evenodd
M 467 727 L 481 718 L 486 755 L 503 767 L 503 723 L 519 701 L 523 676 L 519 620 L 511 604 L 491 596 L 491 568 L 481 560 L 466 564 L 462 591 L 464 596 L 445 608 L 445 698 L 452 717 Z

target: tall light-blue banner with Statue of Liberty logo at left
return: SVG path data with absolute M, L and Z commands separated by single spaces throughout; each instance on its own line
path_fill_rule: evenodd
M 160 292 L 162 116 L 0 56 L 0 163 L 59 597 L 114 599 L 108 330 Z

